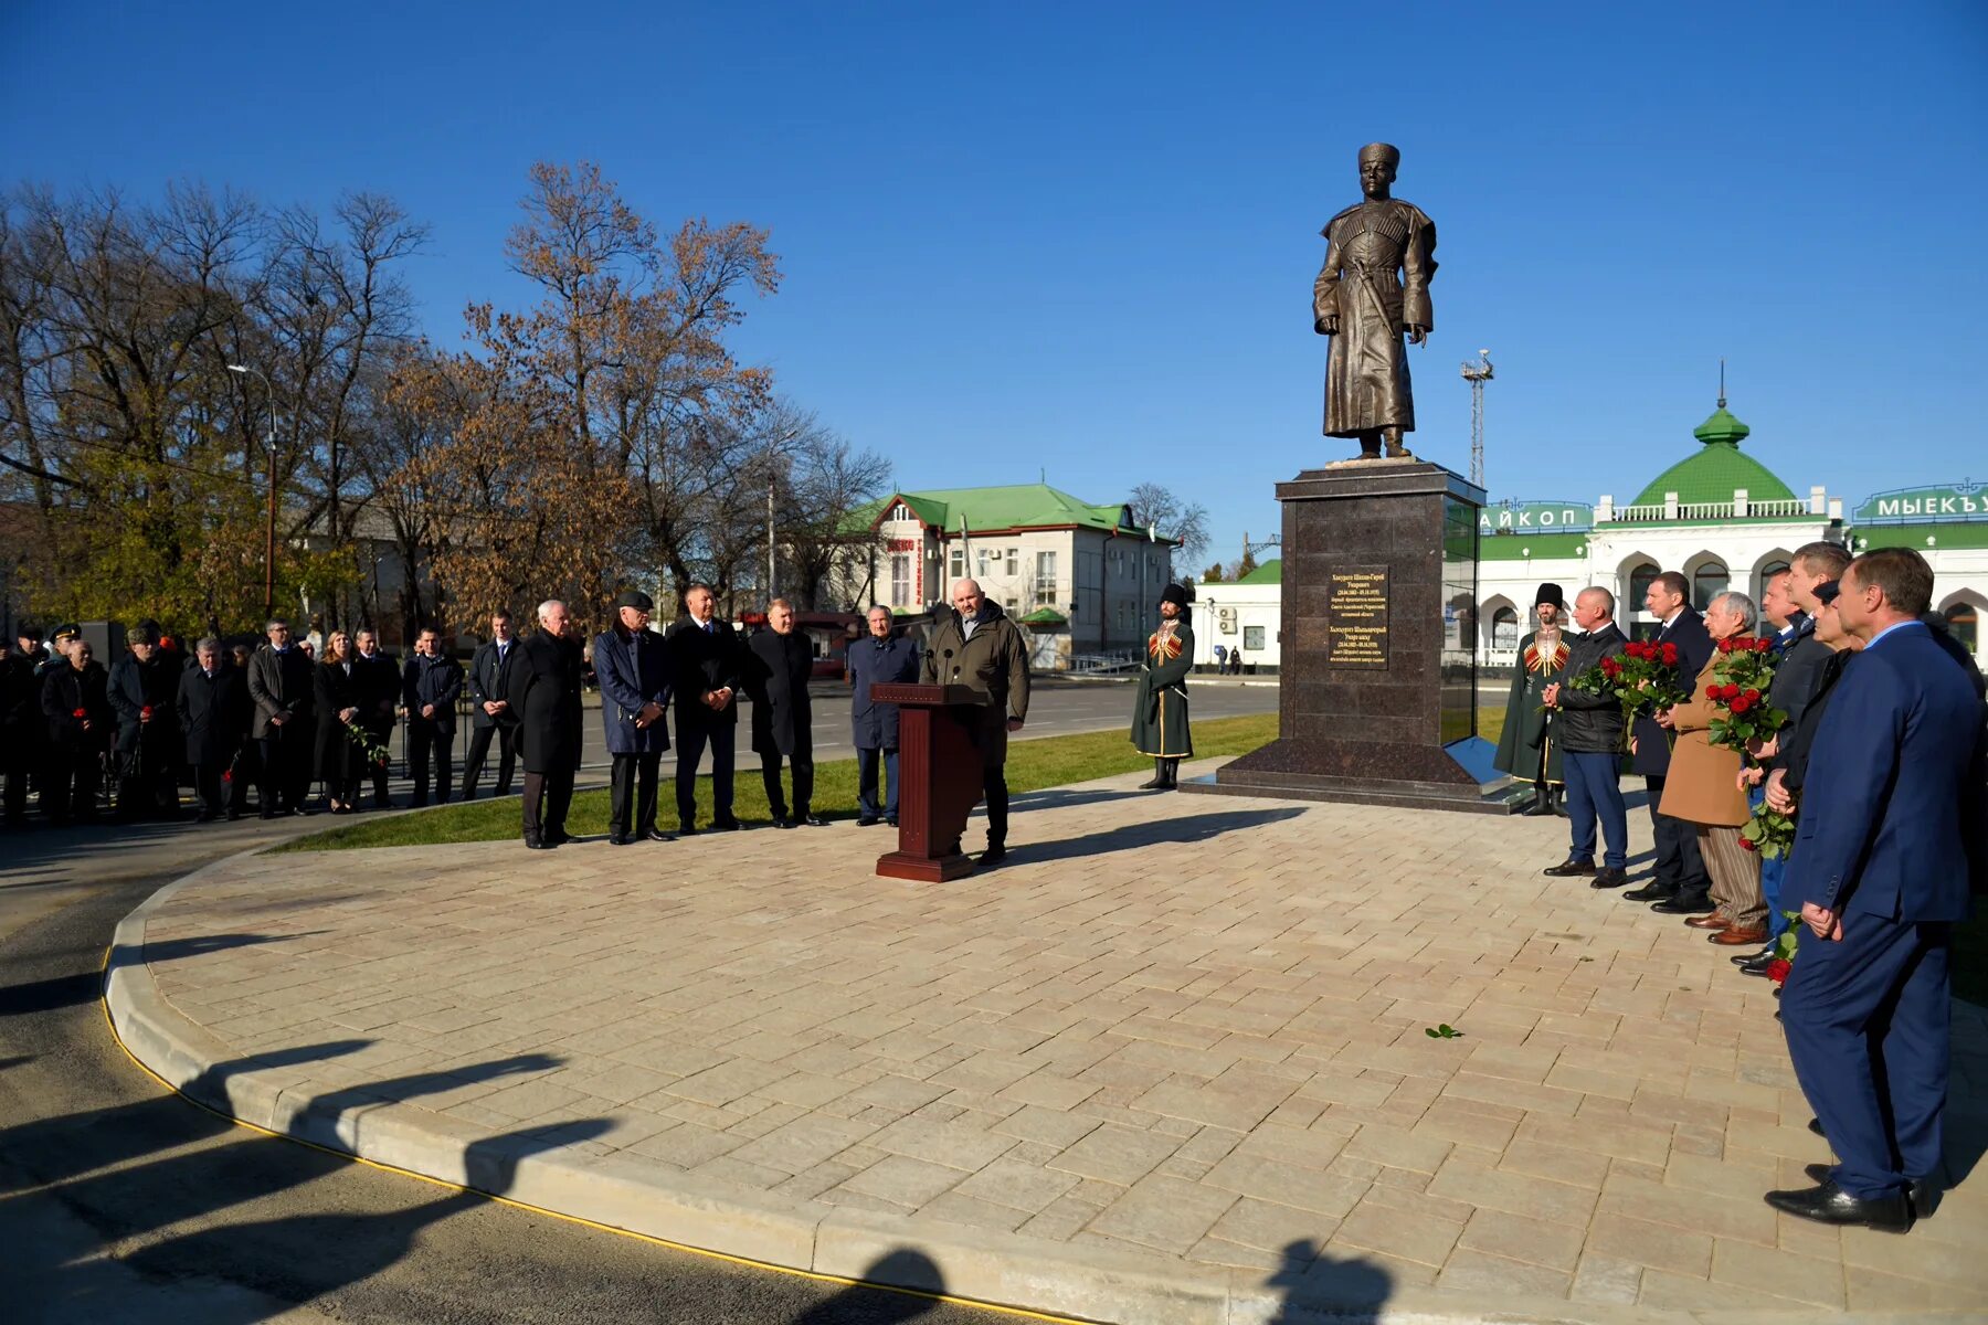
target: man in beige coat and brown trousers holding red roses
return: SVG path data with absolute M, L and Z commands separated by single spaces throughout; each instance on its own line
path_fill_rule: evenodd
M 1714 644 L 1747 640 L 1755 620 L 1757 610 L 1745 594 L 1720 594 L 1706 606 L 1706 634 Z M 1684 924 L 1710 930 L 1714 944 L 1740 948 L 1767 942 L 1767 902 L 1759 890 L 1759 856 L 1740 846 L 1740 828 L 1749 812 L 1745 793 L 1740 791 L 1740 751 L 1714 745 L 1710 737 L 1712 719 L 1726 715 L 1722 705 L 1706 699 L 1720 658 L 1726 654 L 1714 650 L 1692 683 L 1690 699 L 1656 715 L 1678 739 L 1660 810 L 1696 824 L 1698 850 L 1712 876 L 1712 902 L 1718 910 Z

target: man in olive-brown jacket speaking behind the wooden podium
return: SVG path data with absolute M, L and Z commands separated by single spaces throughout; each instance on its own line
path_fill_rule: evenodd
M 928 685 L 966 685 L 986 699 L 974 745 L 988 803 L 988 848 L 980 864 L 1008 856 L 1008 733 L 1028 717 L 1028 640 L 974 580 L 952 586 L 952 612 L 940 616 L 924 656 Z

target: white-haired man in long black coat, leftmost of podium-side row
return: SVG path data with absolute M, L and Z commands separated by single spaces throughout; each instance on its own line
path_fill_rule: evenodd
M 539 630 L 519 644 L 505 703 L 519 723 L 525 763 L 525 846 L 571 842 L 567 809 L 580 767 L 580 644 L 567 638 L 567 604 L 539 604 Z

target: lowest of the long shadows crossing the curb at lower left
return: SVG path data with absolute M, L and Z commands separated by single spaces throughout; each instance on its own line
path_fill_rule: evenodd
M 282 1297 L 298 1305 L 310 1303 L 394 1265 L 408 1255 L 421 1230 L 483 1206 L 491 1196 L 509 1192 L 525 1158 L 592 1140 L 612 1126 L 606 1118 L 588 1118 L 561 1126 L 557 1140 L 527 1130 L 471 1142 L 465 1148 L 463 1166 L 481 1190 L 457 1188 L 435 1200 L 392 1212 L 340 1210 L 215 1224 L 147 1246 L 123 1261 L 139 1273 L 163 1279 L 219 1277 L 235 1283 L 256 1283 L 266 1265 L 284 1265 Z M 410 1184 L 410 1190 L 417 1188 Z M 50 1277 L 56 1283 L 46 1293 L 70 1301 L 70 1309 L 87 1293 L 83 1283 L 64 1283 L 60 1273 Z M 74 1317 L 50 1315 L 48 1319 Z M 264 1319 L 268 1319 L 266 1305 L 248 1301 L 241 1303 L 239 1309 L 219 1303 L 201 1313 L 201 1325 L 252 1325 Z

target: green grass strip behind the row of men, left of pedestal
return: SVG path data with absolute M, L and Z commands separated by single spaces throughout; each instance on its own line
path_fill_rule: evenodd
M 1195 755 L 1246 755 L 1276 739 L 1276 713 L 1252 713 L 1248 717 L 1219 717 L 1195 723 Z M 670 767 L 670 755 L 662 759 Z M 1014 741 L 1008 745 L 1008 791 L 1040 791 L 1044 787 L 1066 787 L 1087 783 L 1093 777 L 1113 773 L 1133 773 L 1151 769 L 1151 759 L 1141 759 L 1123 731 L 1087 731 L 1074 737 L 1042 737 L 1040 741 Z M 662 803 L 662 826 L 676 826 L 676 779 L 664 777 L 658 789 Z M 710 777 L 698 779 L 710 783 Z M 734 812 L 744 820 L 769 818 L 765 789 L 759 783 L 757 755 L 742 749 L 736 779 Z M 710 787 L 698 791 L 698 805 L 708 816 L 712 810 Z M 823 818 L 855 818 L 857 812 L 857 761 L 837 759 L 815 765 L 815 805 Z M 573 797 L 573 812 L 567 828 L 579 836 L 608 830 L 608 793 L 582 791 Z M 501 842 L 519 834 L 517 799 L 471 801 L 451 805 L 423 814 L 396 814 L 394 818 L 358 818 L 328 832 L 314 832 L 278 846 L 276 850 L 348 850 L 356 846 L 425 846 L 433 842 Z

